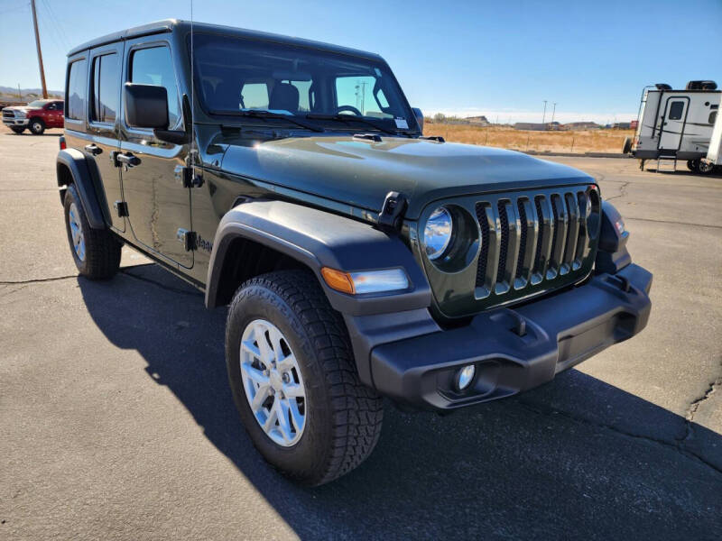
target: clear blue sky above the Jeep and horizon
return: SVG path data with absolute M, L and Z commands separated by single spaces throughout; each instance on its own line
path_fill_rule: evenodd
M 48 87 L 67 50 L 176 17 L 190 0 L 36 0 Z M 380 53 L 425 114 L 562 122 L 629 120 L 644 85 L 722 86 L 722 0 L 359 2 L 195 0 L 205 23 L 278 32 Z M 40 87 L 29 0 L 0 0 L 0 85 Z M 550 113 L 547 114 L 549 119 Z

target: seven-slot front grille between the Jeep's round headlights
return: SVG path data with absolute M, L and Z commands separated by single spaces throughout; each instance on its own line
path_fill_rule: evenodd
M 583 278 L 579 271 L 591 269 L 598 211 L 597 191 L 586 186 L 478 201 L 476 298 L 503 304 Z

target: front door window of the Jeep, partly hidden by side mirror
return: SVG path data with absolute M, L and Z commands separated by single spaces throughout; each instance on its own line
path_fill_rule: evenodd
M 180 108 L 171 50 L 163 46 L 134 50 L 130 65 L 132 83 L 165 87 L 168 92 L 168 120 L 172 128 L 180 118 Z

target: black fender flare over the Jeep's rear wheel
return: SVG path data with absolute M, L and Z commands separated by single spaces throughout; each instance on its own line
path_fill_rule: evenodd
M 88 164 L 85 154 L 77 149 L 66 149 L 58 152 L 55 167 L 59 187 L 68 184 L 67 179 L 61 173 L 61 168 L 66 167 L 70 171 L 73 184 L 80 197 L 80 203 L 88 216 L 90 227 L 93 229 L 106 229 L 110 220 L 107 214 L 107 205 L 105 204 L 104 212 L 104 206 L 100 203 L 101 201 L 105 203 L 105 197 L 103 197 L 104 192 L 100 185 L 95 163 L 92 166 Z

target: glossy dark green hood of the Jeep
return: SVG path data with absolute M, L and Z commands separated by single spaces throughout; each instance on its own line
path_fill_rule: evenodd
M 521 152 L 450 142 L 400 137 L 373 142 L 347 135 L 254 146 L 225 142 L 221 168 L 230 174 L 374 212 L 381 210 L 388 192 L 402 192 L 409 200 L 409 219 L 448 197 L 593 182 L 579 170 Z

